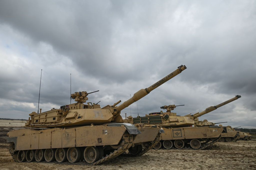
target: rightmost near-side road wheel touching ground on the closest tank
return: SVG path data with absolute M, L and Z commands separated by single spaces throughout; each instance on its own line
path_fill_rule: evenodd
M 88 146 L 83 151 L 84 160 L 89 164 L 98 161 L 100 154 L 102 155 L 102 153 L 99 151 L 99 148 L 93 146 Z

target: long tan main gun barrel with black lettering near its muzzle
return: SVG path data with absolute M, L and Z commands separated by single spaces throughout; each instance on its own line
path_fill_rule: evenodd
M 154 90 L 155 88 L 161 86 L 162 84 L 164 84 L 165 82 L 167 82 L 168 80 L 172 79 L 173 77 L 175 77 L 176 75 L 178 75 L 179 73 L 181 73 L 183 70 L 186 69 L 186 66 L 181 65 L 178 67 L 178 69 L 176 69 L 174 72 L 168 74 L 167 76 L 165 76 L 163 79 L 159 80 L 158 82 L 154 83 L 153 85 L 149 86 L 148 88 L 145 89 L 141 89 L 139 91 L 137 91 L 132 98 L 130 98 L 129 100 L 126 100 L 125 102 L 123 102 L 122 104 L 120 104 L 119 106 L 116 107 L 116 109 L 118 111 L 123 110 L 124 108 L 130 106 L 132 103 L 140 100 L 141 98 L 143 98 L 144 96 L 146 96 L 147 94 L 149 94 L 152 90 Z

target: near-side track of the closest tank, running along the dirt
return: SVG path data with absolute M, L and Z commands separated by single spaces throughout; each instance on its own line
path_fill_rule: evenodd
M 54 164 L 68 164 L 68 165 L 99 165 L 99 164 L 102 164 L 104 162 L 107 162 L 113 158 L 115 158 L 116 156 L 124 153 L 126 150 L 128 150 L 131 146 L 132 146 L 132 142 L 133 142 L 133 135 L 130 135 L 128 133 L 125 133 L 122 137 L 122 145 L 116 149 L 114 152 L 111 152 L 109 155 L 106 155 L 105 157 L 103 157 L 102 159 L 92 163 L 92 164 L 89 164 L 89 163 L 86 163 L 84 160 L 80 162 L 77 162 L 77 163 L 70 163 L 70 162 L 62 162 L 62 163 L 59 163 L 57 161 L 53 161 L 53 162 L 46 162 L 46 161 L 42 161 L 42 162 L 38 162 L 38 163 L 54 163 Z M 16 151 L 18 152 L 18 151 Z M 15 152 L 15 153 L 16 153 Z M 13 160 L 15 162 L 18 162 L 17 160 L 17 154 L 12 154 L 12 157 L 13 157 Z

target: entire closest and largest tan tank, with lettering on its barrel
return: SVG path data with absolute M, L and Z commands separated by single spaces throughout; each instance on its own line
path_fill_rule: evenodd
M 113 159 L 126 150 L 129 150 L 128 155 L 140 156 L 160 140 L 160 127 L 123 123 L 121 110 L 185 69 L 183 65 L 178 67 L 152 86 L 137 91 L 119 106 L 120 100 L 103 108 L 97 103 L 84 104 L 90 93 L 81 91 L 71 95 L 77 103 L 42 113 L 40 110 L 39 114 L 32 112 L 26 123 L 28 129 L 7 133 L 9 151 L 17 162 L 68 160 L 75 163 L 85 160 L 93 165 Z

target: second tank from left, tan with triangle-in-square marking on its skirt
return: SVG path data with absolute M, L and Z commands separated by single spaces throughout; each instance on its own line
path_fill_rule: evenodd
M 188 114 L 186 116 L 177 116 L 176 113 L 171 112 L 176 106 L 169 105 L 161 107 L 161 109 L 167 110 L 165 113 L 161 111 L 137 118 L 129 116 L 125 122 L 132 124 L 143 123 L 161 125 L 164 129 L 164 133 L 161 134 L 161 141 L 154 146 L 154 149 L 160 149 L 162 147 L 165 149 L 182 149 L 184 147 L 204 149 L 218 141 L 223 128 L 218 126 L 191 127 L 194 125 L 194 119 L 234 101 L 239 97 L 241 96 L 236 96 L 217 106 L 211 106 L 203 112 L 194 115 Z

